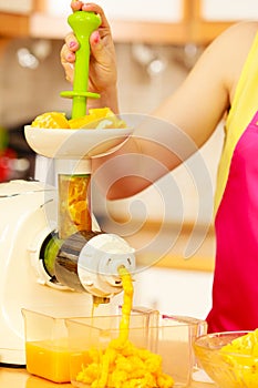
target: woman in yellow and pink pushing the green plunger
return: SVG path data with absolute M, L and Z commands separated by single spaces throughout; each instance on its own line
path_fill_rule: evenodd
M 118 113 L 115 50 L 109 22 L 96 4 L 72 3 L 73 10 L 99 13 L 102 24 L 91 35 L 90 86 L 101 99 L 90 108 L 110 106 Z M 66 78 L 73 80 L 73 63 L 79 44 L 71 33 L 61 51 Z M 184 157 L 175 149 L 173 133 L 164 125 L 158 131 L 135 131 L 115 154 L 94 161 L 97 170 L 120 155 L 142 157 L 141 174 L 123 172 L 107 184 L 110 169 L 103 169 L 100 184 L 109 200 L 141 192 L 174 170 L 199 149 L 226 114 L 225 144 L 215 196 L 216 268 L 213 307 L 207 317 L 209 331 L 255 329 L 258 327 L 258 23 L 242 22 L 219 35 L 203 53 L 186 80 L 153 113 L 175 124 L 193 141 Z M 187 143 L 187 142 L 186 142 Z M 185 143 L 185 144 L 186 144 Z M 188 144 L 188 143 L 187 143 Z M 149 157 L 157 161 L 146 178 Z M 116 159 L 118 161 L 118 159 Z M 109 163 L 107 163 L 109 164 Z M 162 167 L 161 167 L 162 166 Z M 127 165 L 126 165 L 126 169 Z

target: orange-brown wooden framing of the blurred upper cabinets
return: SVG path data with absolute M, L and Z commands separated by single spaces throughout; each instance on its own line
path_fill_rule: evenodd
M 183 0 L 178 22 L 110 20 L 115 42 L 207 45 L 235 21 L 206 21 L 202 18 L 202 0 Z M 31 14 L 0 12 L 0 35 L 60 39 L 71 31 L 65 17 L 51 16 L 43 0 L 34 0 Z

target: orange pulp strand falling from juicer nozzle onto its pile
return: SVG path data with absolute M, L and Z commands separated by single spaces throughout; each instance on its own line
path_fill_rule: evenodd
M 124 289 L 120 335 L 105 350 L 87 351 L 87 365 L 82 367 L 76 380 L 91 388 L 171 388 L 174 380 L 163 372 L 162 357 L 128 340 L 133 283 L 126 268 L 118 270 Z

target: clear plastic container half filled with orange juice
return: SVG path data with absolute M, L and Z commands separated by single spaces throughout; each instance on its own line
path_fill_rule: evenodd
M 114 331 L 111 330 L 111 333 L 116 336 L 121 310 L 116 308 L 117 315 L 114 316 L 106 315 L 83 318 L 71 315 L 54 315 L 51 308 L 49 310 L 51 315 L 49 313 L 42 314 L 35 310 L 22 309 L 27 370 L 31 375 L 45 378 L 53 382 L 70 382 L 73 379 L 71 376 L 74 375 L 74 359 L 79 359 L 76 355 L 74 356 L 74 353 L 78 353 L 78 348 L 80 348 L 81 354 L 83 354 L 89 346 L 95 346 L 102 339 L 101 337 L 97 338 L 100 331 L 97 329 L 95 330 L 95 326 L 99 324 L 106 333 L 111 327 L 114 328 Z M 147 338 L 147 328 L 156 321 L 157 316 L 157 312 L 147 308 L 135 308 L 132 312 L 131 325 L 141 327 L 141 335 L 145 331 L 145 338 Z M 83 323 L 82 330 L 79 331 L 79 344 L 75 338 L 79 333 L 73 331 L 73 329 L 70 330 L 70 334 L 68 331 L 68 327 L 74 327 L 73 324 L 66 324 L 70 320 Z M 89 330 L 86 329 L 87 325 L 90 325 Z M 81 327 L 81 324 L 79 327 Z M 92 336 L 90 339 L 85 337 L 86 331 Z M 70 363 L 70 360 L 72 361 Z M 72 375 L 70 374 L 70 369 Z

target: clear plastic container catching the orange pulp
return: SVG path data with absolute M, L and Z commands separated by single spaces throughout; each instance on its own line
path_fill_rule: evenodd
M 71 350 L 71 382 L 74 387 L 91 387 L 89 378 L 91 371 L 99 376 L 96 386 L 103 384 L 104 372 L 109 374 L 109 379 L 113 378 L 112 353 L 104 363 L 100 355 L 106 354 L 109 344 L 120 336 L 120 316 L 106 316 L 66 319 Z M 187 387 L 192 381 L 195 367 L 193 343 L 204 333 L 206 333 L 206 323 L 203 320 L 165 316 L 149 310 L 145 314 L 132 314 L 128 340 L 137 349 L 147 349 L 159 355 L 163 372 L 173 378 L 174 386 Z M 126 357 L 124 360 L 126 363 Z M 116 371 L 116 375 L 121 372 L 121 370 Z M 110 386 L 113 387 L 112 384 Z M 105 387 L 109 388 L 109 382 Z

